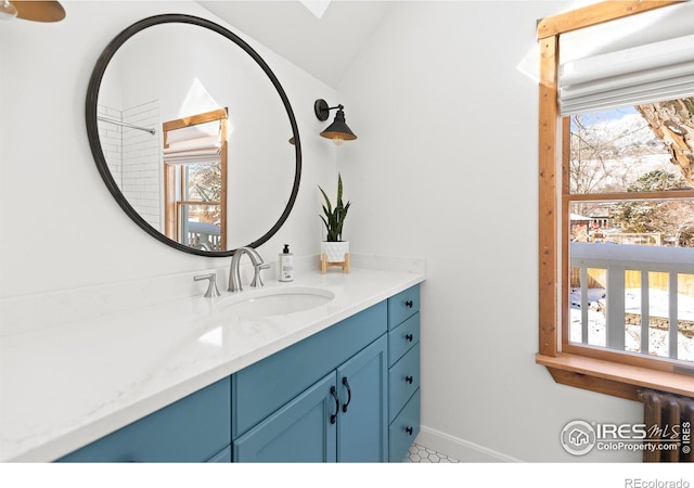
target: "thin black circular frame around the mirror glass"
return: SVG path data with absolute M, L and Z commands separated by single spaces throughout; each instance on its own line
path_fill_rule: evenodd
M 108 191 L 116 200 L 118 205 L 123 208 L 123 210 L 130 217 L 140 228 L 142 228 L 146 233 L 155 237 L 156 240 L 163 242 L 164 244 L 171 246 L 176 249 L 182 251 L 189 254 L 195 254 L 198 256 L 206 257 L 228 257 L 234 254 L 235 249 L 230 251 L 202 251 L 195 249 L 193 247 L 188 247 L 172 239 L 167 237 L 164 233 L 159 232 L 155 228 L 153 228 L 150 223 L 147 223 L 138 211 L 130 205 L 130 203 L 126 200 L 125 195 L 118 188 L 116 181 L 111 175 L 111 170 L 108 169 L 108 165 L 106 164 L 106 158 L 104 156 L 103 150 L 101 147 L 101 141 L 99 139 L 99 127 L 97 123 L 97 108 L 99 101 L 99 89 L 101 88 L 101 81 L 111 62 L 111 59 L 118 51 L 120 46 L 126 42 L 129 38 L 138 34 L 139 31 L 159 24 L 170 24 L 170 23 L 183 23 L 183 24 L 193 24 L 201 27 L 208 28 L 214 30 L 215 33 L 220 34 L 227 39 L 236 43 L 241 49 L 243 49 L 253 60 L 260 66 L 260 68 L 265 72 L 265 74 L 270 78 L 272 85 L 274 86 L 278 94 L 282 99 L 282 103 L 284 104 L 284 108 L 286 110 L 287 116 L 290 118 L 290 124 L 292 126 L 292 133 L 294 139 L 294 152 L 296 155 L 296 168 L 294 172 L 294 185 L 292 188 L 292 194 L 290 200 L 284 208 L 284 211 L 278 219 L 278 221 L 272 226 L 272 228 L 265 233 L 260 239 L 247 244 L 250 247 L 258 247 L 259 245 L 266 243 L 270 237 L 272 237 L 278 230 L 284 224 L 292 208 L 294 207 L 294 203 L 296 201 L 296 196 L 298 194 L 299 181 L 301 178 L 301 143 L 299 140 L 299 130 L 296 124 L 296 119 L 294 117 L 294 111 L 292 110 L 292 105 L 290 104 L 290 100 L 280 85 L 277 76 L 272 73 L 272 69 L 268 66 L 268 64 L 260 57 L 260 55 L 248 46 L 243 39 L 241 39 L 235 34 L 226 29 L 224 27 L 215 24 L 211 21 L 207 21 L 206 18 L 196 17 L 187 14 L 162 14 L 154 15 L 142 21 L 139 21 L 132 24 L 130 27 L 123 30 L 118 34 L 110 43 L 106 46 L 101 56 L 97 61 L 97 65 L 94 66 L 94 70 L 92 72 L 91 78 L 89 79 L 89 87 L 87 89 L 87 103 L 86 103 L 86 121 L 87 121 L 87 136 L 89 139 L 89 145 L 91 147 L 91 153 L 94 157 L 94 162 L 97 163 L 97 168 L 99 169 L 99 174 L 101 178 L 106 183 Z

